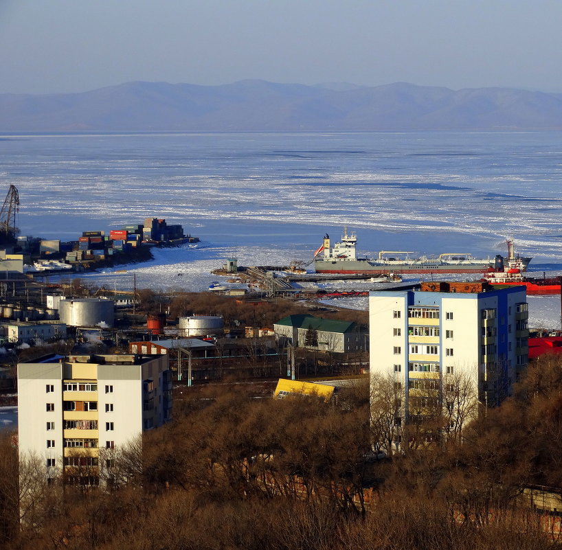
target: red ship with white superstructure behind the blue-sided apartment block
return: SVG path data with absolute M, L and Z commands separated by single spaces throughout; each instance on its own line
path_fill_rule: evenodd
M 508 257 L 496 256 L 495 266 L 484 275 L 484 279 L 494 288 L 525 286 L 528 295 L 553 295 L 562 292 L 562 277 L 525 277 L 521 263 L 513 253 L 513 244 L 508 241 Z

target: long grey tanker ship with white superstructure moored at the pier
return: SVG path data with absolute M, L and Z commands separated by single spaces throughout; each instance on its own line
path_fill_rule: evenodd
M 511 241 L 508 241 L 511 243 Z M 380 251 L 378 258 L 358 258 L 357 236 L 344 227 L 341 241 L 330 247 L 330 236 L 314 253 L 316 273 L 486 273 L 494 268 L 495 260 L 475 258 L 469 253 L 444 253 L 438 257 L 412 257 L 414 252 Z M 511 243 L 513 247 L 513 243 Z M 521 271 L 525 271 L 530 257 L 518 257 Z

